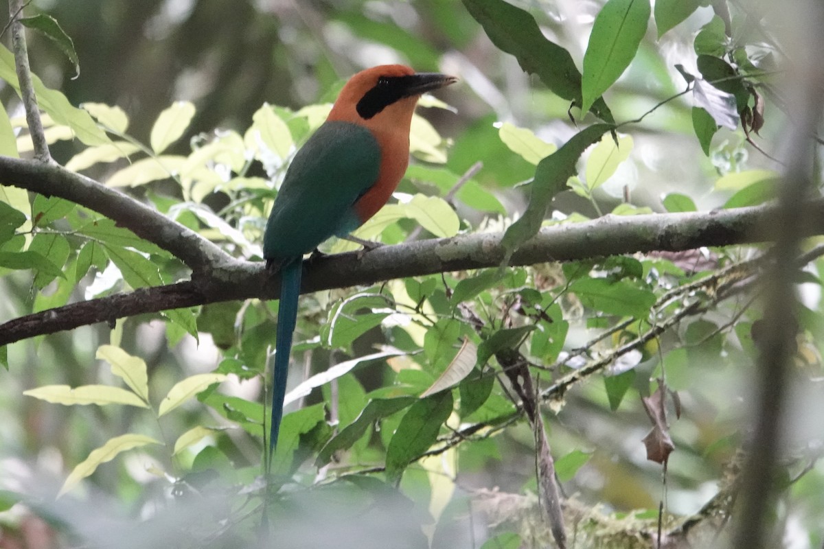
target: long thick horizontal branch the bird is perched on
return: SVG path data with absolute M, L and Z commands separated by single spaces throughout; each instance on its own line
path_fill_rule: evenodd
M 0 179 L 3 176 L 2 167 L 7 161 L 0 158 Z M 54 173 L 52 170 L 47 172 Z M 85 179 L 65 170 L 60 173 L 63 173 L 61 177 Z M 152 212 L 152 216 L 159 216 L 162 222 L 169 222 L 150 208 L 142 204 L 139 206 Z M 805 234 L 824 234 L 824 200 L 808 202 L 805 208 L 798 212 L 798 216 L 809 221 L 804 226 Z M 523 244 L 513 254 L 511 264 L 531 265 L 653 250 L 681 251 L 702 246 L 770 241 L 770 230 L 766 227 L 773 216 L 775 207 L 761 206 L 713 212 L 605 216 L 585 223 L 549 226 Z M 142 232 L 145 234 L 146 231 Z M 186 238 L 199 245 L 202 238 L 189 232 L 194 236 Z M 401 277 L 497 267 L 505 253 L 501 246 L 502 237 L 499 233 L 460 235 L 450 239 L 382 246 L 367 253 L 311 258 L 306 263 L 301 291 L 307 293 Z M 184 237 L 175 235 L 169 240 L 174 243 L 183 241 Z M 152 242 L 157 243 L 157 237 Z M 181 245 L 176 244 L 176 248 Z M 217 248 L 211 243 L 209 246 Z M 181 253 L 191 255 L 190 250 L 182 249 Z M 208 261 L 210 256 L 201 252 L 197 257 Z M 143 288 L 129 294 L 110 295 L 9 320 L 0 325 L 0 345 L 165 309 L 250 298 L 277 299 L 279 288 L 279 277 L 270 276 L 263 263 L 230 258 L 211 276 L 198 277 L 195 281 Z

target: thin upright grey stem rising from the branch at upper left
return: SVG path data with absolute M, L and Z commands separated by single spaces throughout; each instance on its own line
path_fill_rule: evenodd
M 37 106 L 35 86 L 31 81 L 26 34 L 23 24 L 20 22 L 22 9 L 22 0 L 9 0 L 8 13 L 12 19 L 12 49 L 14 50 L 14 64 L 17 69 L 17 81 L 20 82 L 20 96 L 23 100 L 23 106 L 26 108 L 26 123 L 29 125 L 31 142 L 35 145 L 35 158 L 40 162 L 51 162 L 49 143 L 46 142 L 43 122 L 40 120 L 40 107 Z

